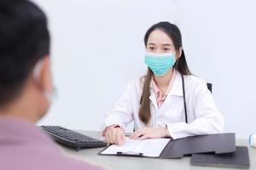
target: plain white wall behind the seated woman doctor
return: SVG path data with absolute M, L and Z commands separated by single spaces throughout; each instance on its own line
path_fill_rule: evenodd
M 213 84 L 225 131 L 256 133 L 256 3 L 251 0 L 34 0 L 49 17 L 58 98 L 38 124 L 100 130 L 127 82 L 141 77 L 143 36 L 167 20 L 193 73 Z

